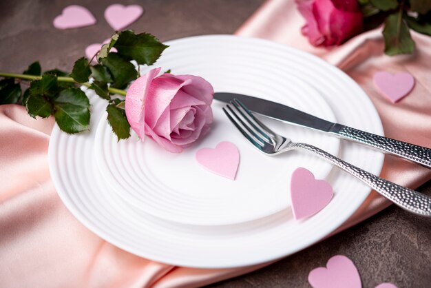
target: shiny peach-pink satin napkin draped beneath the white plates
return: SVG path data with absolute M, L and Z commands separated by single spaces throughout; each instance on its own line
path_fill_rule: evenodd
M 381 28 L 337 48 L 315 48 L 300 34 L 294 1 L 268 0 L 235 33 L 284 43 L 336 65 L 370 96 L 385 135 L 431 146 L 431 37 L 412 32 L 412 55 L 386 56 Z M 379 71 L 409 72 L 412 92 L 392 104 L 372 83 Z M 32 119 L 18 105 L 0 106 L 0 283 L 2 287 L 198 287 L 248 273 L 236 269 L 174 267 L 127 253 L 99 238 L 65 208 L 50 179 L 48 143 L 53 119 Z M 381 176 L 410 188 L 431 170 L 386 156 Z M 390 205 L 372 192 L 337 233 Z

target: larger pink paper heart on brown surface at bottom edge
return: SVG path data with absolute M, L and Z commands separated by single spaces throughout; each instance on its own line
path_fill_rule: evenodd
M 313 269 L 308 274 L 308 282 L 313 288 L 361 288 L 361 277 L 355 264 L 342 255 L 330 258 L 326 268 Z

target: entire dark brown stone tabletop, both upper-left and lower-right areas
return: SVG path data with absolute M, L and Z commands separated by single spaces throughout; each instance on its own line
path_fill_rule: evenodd
M 139 3 L 143 17 L 129 28 L 150 32 L 167 41 L 198 34 L 232 34 L 263 0 L 147 0 Z M 115 1 L 0 1 L 0 71 L 22 72 L 34 60 L 44 70 L 71 70 L 87 45 L 112 34 L 103 18 Z M 52 20 L 70 4 L 83 5 L 98 23 L 86 28 L 57 30 Z M 431 182 L 419 188 L 431 194 Z M 398 287 L 431 287 L 431 220 L 397 207 L 341 232 L 322 243 L 251 274 L 211 287 L 310 287 L 309 271 L 326 265 L 337 254 L 353 260 L 363 287 L 393 282 Z M 37 283 L 34 283 L 37 286 Z

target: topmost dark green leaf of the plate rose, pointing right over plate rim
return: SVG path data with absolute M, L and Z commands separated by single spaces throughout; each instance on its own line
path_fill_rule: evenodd
M 168 46 L 160 43 L 151 34 L 134 34 L 132 30 L 125 30 L 120 32 L 114 47 L 118 50 L 118 54 L 127 60 L 151 65 Z

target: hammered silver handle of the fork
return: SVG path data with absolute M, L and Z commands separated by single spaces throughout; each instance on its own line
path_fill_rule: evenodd
M 344 171 L 363 181 L 372 189 L 375 189 L 376 192 L 379 192 L 379 194 L 385 196 L 403 209 L 415 214 L 431 216 L 431 198 L 424 194 L 375 176 L 374 174 L 366 172 L 355 165 L 347 163 L 346 161 L 343 161 L 340 158 L 329 154 L 328 152 L 313 145 L 306 143 L 291 143 L 291 147 L 307 150 L 308 152 L 313 152 L 314 154 L 321 156 L 327 161 L 337 165 Z

